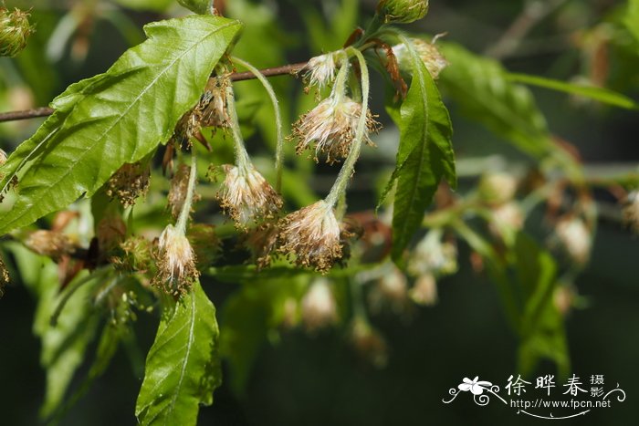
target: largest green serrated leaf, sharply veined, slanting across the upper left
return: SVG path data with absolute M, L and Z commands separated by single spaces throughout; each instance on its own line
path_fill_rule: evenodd
M 92 195 L 122 164 L 168 140 L 240 26 L 217 16 L 149 24 L 147 41 L 58 97 L 52 106 L 60 110 L 2 168 L 0 188 L 15 176 L 19 183 L 16 203 L 0 213 L 0 234 Z

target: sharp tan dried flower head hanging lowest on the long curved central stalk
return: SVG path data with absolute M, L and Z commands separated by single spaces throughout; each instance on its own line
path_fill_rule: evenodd
M 324 200 L 281 220 L 278 251 L 295 255 L 296 263 L 326 272 L 341 258 L 340 223 Z

